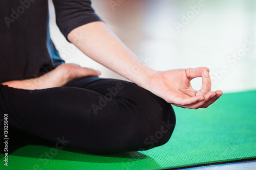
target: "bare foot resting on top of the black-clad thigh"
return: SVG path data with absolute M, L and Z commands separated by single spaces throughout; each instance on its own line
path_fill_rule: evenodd
M 60 87 L 75 78 L 99 75 L 99 71 L 90 68 L 80 67 L 77 64 L 61 64 L 52 71 L 47 72 L 40 77 L 26 80 L 14 80 L 1 84 L 8 85 L 9 87 L 13 88 L 28 90 L 45 89 Z

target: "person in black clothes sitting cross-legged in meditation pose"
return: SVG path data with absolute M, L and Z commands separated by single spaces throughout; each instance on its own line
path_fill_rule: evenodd
M 210 91 L 206 67 L 157 71 L 143 65 L 89 0 L 53 3 L 68 41 L 134 83 L 101 79 L 97 70 L 65 64 L 49 35 L 48 1 L 3 0 L 0 113 L 2 119 L 8 114 L 9 128 L 97 154 L 148 150 L 173 133 L 170 104 L 206 108 L 222 95 Z M 190 85 L 195 77 L 202 77 L 199 91 Z

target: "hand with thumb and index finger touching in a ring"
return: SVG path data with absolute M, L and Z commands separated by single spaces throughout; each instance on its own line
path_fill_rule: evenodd
M 206 67 L 156 71 L 146 77 L 145 87 L 166 102 L 183 108 L 207 108 L 223 94 L 210 91 L 211 80 Z M 202 77 L 202 88 L 195 90 L 190 80 Z

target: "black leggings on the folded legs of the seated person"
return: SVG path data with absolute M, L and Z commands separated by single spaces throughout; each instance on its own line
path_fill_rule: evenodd
M 158 147 L 176 123 L 172 106 L 150 91 L 98 77 L 42 90 L 1 84 L 0 114 L 8 114 L 9 129 L 95 154 Z

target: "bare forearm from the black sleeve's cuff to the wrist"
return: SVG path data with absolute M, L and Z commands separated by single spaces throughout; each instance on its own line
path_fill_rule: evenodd
M 144 78 L 155 72 L 142 65 L 140 59 L 101 21 L 74 29 L 69 33 L 68 39 L 96 62 L 139 86 L 144 86 Z

